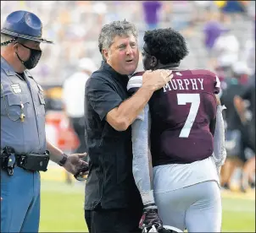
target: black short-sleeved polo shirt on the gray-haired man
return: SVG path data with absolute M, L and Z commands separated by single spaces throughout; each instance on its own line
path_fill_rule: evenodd
M 131 127 L 116 131 L 106 121 L 109 111 L 128 98 L 128 76 L 106 62 L 86 83 L 86 145 L 90 154 L 85 209 L 119 209 L 142 200 L 132 176 Z

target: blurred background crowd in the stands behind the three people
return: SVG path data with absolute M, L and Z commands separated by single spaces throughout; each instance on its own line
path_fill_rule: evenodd
M 1 1 L 1 22 L 18 9 L 38 15 L 43 36 L 54 41 L 42 45 L 42 60 L 31 70 L 45 89 L 47 134 L 53 143 L 67 152 L 85 148 L 83 82 L 101 64 L 97 39 L 103 24 L 123 19 L 136 24 L 140 48 L 145 30 L 172 27 L 185 36 L 190 51 L 181 68 L 207 68 L 220 78 L 229 147 L 222 187 L 246 192 L 255 186 L 255 150 L 244 142 L 250 138 L 243 137 L 248 127 L 235 105 L 248 85 L 254 85 L 255 98 L 255 1 Z M 255 121 L 255 100 L 242 102 L 247 121 Z M 239 149 L 237 144 L 242 144 Z

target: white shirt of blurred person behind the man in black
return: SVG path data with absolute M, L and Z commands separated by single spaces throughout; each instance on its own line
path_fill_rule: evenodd
M 63 100 L 69 117 L 84 117 L 84 97 L 88 74 L 77 72 L 64 81 Z

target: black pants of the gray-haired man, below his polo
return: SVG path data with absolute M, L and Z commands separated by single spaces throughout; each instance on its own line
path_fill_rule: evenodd
M 138 228 L 141 211 L 131 209 L 85 210 L 90 233 L 141 233 Z

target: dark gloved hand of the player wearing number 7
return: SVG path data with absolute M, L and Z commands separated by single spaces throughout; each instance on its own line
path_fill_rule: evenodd
M 139 227 L 142 229 L 142 233 L 159 232 L 163 229 L 163 222 L 159 218 L 158 208 L 155 204 L 147 205 L 143 209 Z

